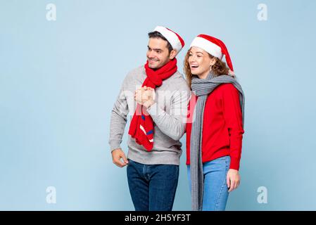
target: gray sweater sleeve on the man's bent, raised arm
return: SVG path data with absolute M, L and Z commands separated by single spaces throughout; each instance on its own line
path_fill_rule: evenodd
M 187 84 L 184 84 L 187 87 Z M 166 113 L 157 103 L 151 105 L 147 112 L 153 118 L 153 122 L 166 135 L 175 141 L 179 141 L 184 134 L 187 124 L 187 105 L 191 91 L 175 91 L 172 95 L 170 113 Z

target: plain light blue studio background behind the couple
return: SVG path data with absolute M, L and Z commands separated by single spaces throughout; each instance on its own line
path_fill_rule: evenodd
M 110 156 L 110 112 L 156 25 L 184 37 L 180 71 L 197 34 L 225 41 L 246 93 L 241 186 L 227 210 L 316 210 L 315 21 L 312 0 L 1 0 L 0 210 L 134 210 Z M 174 210 L 191 210 L 184 161 L 185 148 Z

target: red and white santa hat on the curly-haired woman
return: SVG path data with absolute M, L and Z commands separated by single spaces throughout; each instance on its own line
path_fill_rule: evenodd
M 199 34 L 192 41 L 190 48 L 192 46 L 201 48 L 204 51 L 210 53 L 212 56 L 219 58 L 220 60 L 222 60 L 222 57 L 225 55 L 226 63 L 230 69 L 229 75 L 234 75 L 232 60 L 230 59 L 228 50 L 223 41 L 215 37 L 208 36 L 206 34 Z

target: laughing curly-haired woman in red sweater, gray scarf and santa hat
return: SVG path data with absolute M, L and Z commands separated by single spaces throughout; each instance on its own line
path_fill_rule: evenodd
M 184 72 L 193 92 L 187 120 L 192 210 L 225 210 L 240 182 L 244 94 L 225 44 L 206 34 L 192 41 Z

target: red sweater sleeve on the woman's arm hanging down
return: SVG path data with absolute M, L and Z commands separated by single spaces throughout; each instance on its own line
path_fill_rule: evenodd
M 239 91 L 233 84 L 226 84 L 222 92 L 223 115 L 229 131 L 230 166 L 229 169 L 239 170 L 241 147 L 244 129 L 242 125 Z

